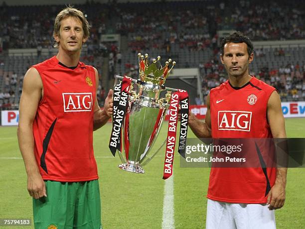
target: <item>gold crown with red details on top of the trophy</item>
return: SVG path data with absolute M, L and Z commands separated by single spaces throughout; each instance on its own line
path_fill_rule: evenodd
M 161 57 L 157 56 L 157 59 L 153 58 L 152 64 L 149 65 L 149 55 L 147 53 L 145 55 L 138 53 L 138 57 L 140 80 L 153 84 L 163 85 L 173 66 L 176 64 L 175 61 L 168 59 L 165 62 L 165 66 L 162 67 L 160 62 Z

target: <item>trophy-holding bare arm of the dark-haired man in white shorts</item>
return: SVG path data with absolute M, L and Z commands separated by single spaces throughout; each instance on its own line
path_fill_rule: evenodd
M 195 117 L 194 114 L 190 112 L 188 118 L 188 125 L 193 131 L 193 133 L 198 138 L 209 138 L 212 136 L 211 133 L 211 116 L 210 116 L 210 94 L 207 96 L 206 99 L 207 104 L 207 111 L 205 114 L 205 121 L 201 121 Z

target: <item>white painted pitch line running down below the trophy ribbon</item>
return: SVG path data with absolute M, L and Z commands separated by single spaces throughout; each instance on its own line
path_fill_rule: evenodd
M 173 175 L 164 181 L 162 229 L 174 229 L 174 186 Z

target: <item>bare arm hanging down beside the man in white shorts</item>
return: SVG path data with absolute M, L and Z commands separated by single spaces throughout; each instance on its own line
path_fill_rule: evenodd
M 271 132 L 274 138 L 286 138 L 285 119 L 282 112 L 281 100 L 279 94 L 274 91 L 267 105 L 267 116 Z M 287 168 L 277 168 L 277 177 L 274 186 L 268 194 L 267 203 L 270 203 L 269 209 L 279 209 L 285 203 Z

